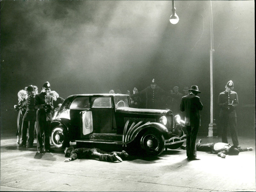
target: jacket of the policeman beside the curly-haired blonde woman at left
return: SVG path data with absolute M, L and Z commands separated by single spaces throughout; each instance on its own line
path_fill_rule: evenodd
M 23 121 L 36 121 L 35 96 L 28 96 L 26 100 L 26 106 L 27 109 L 23 116 Z

